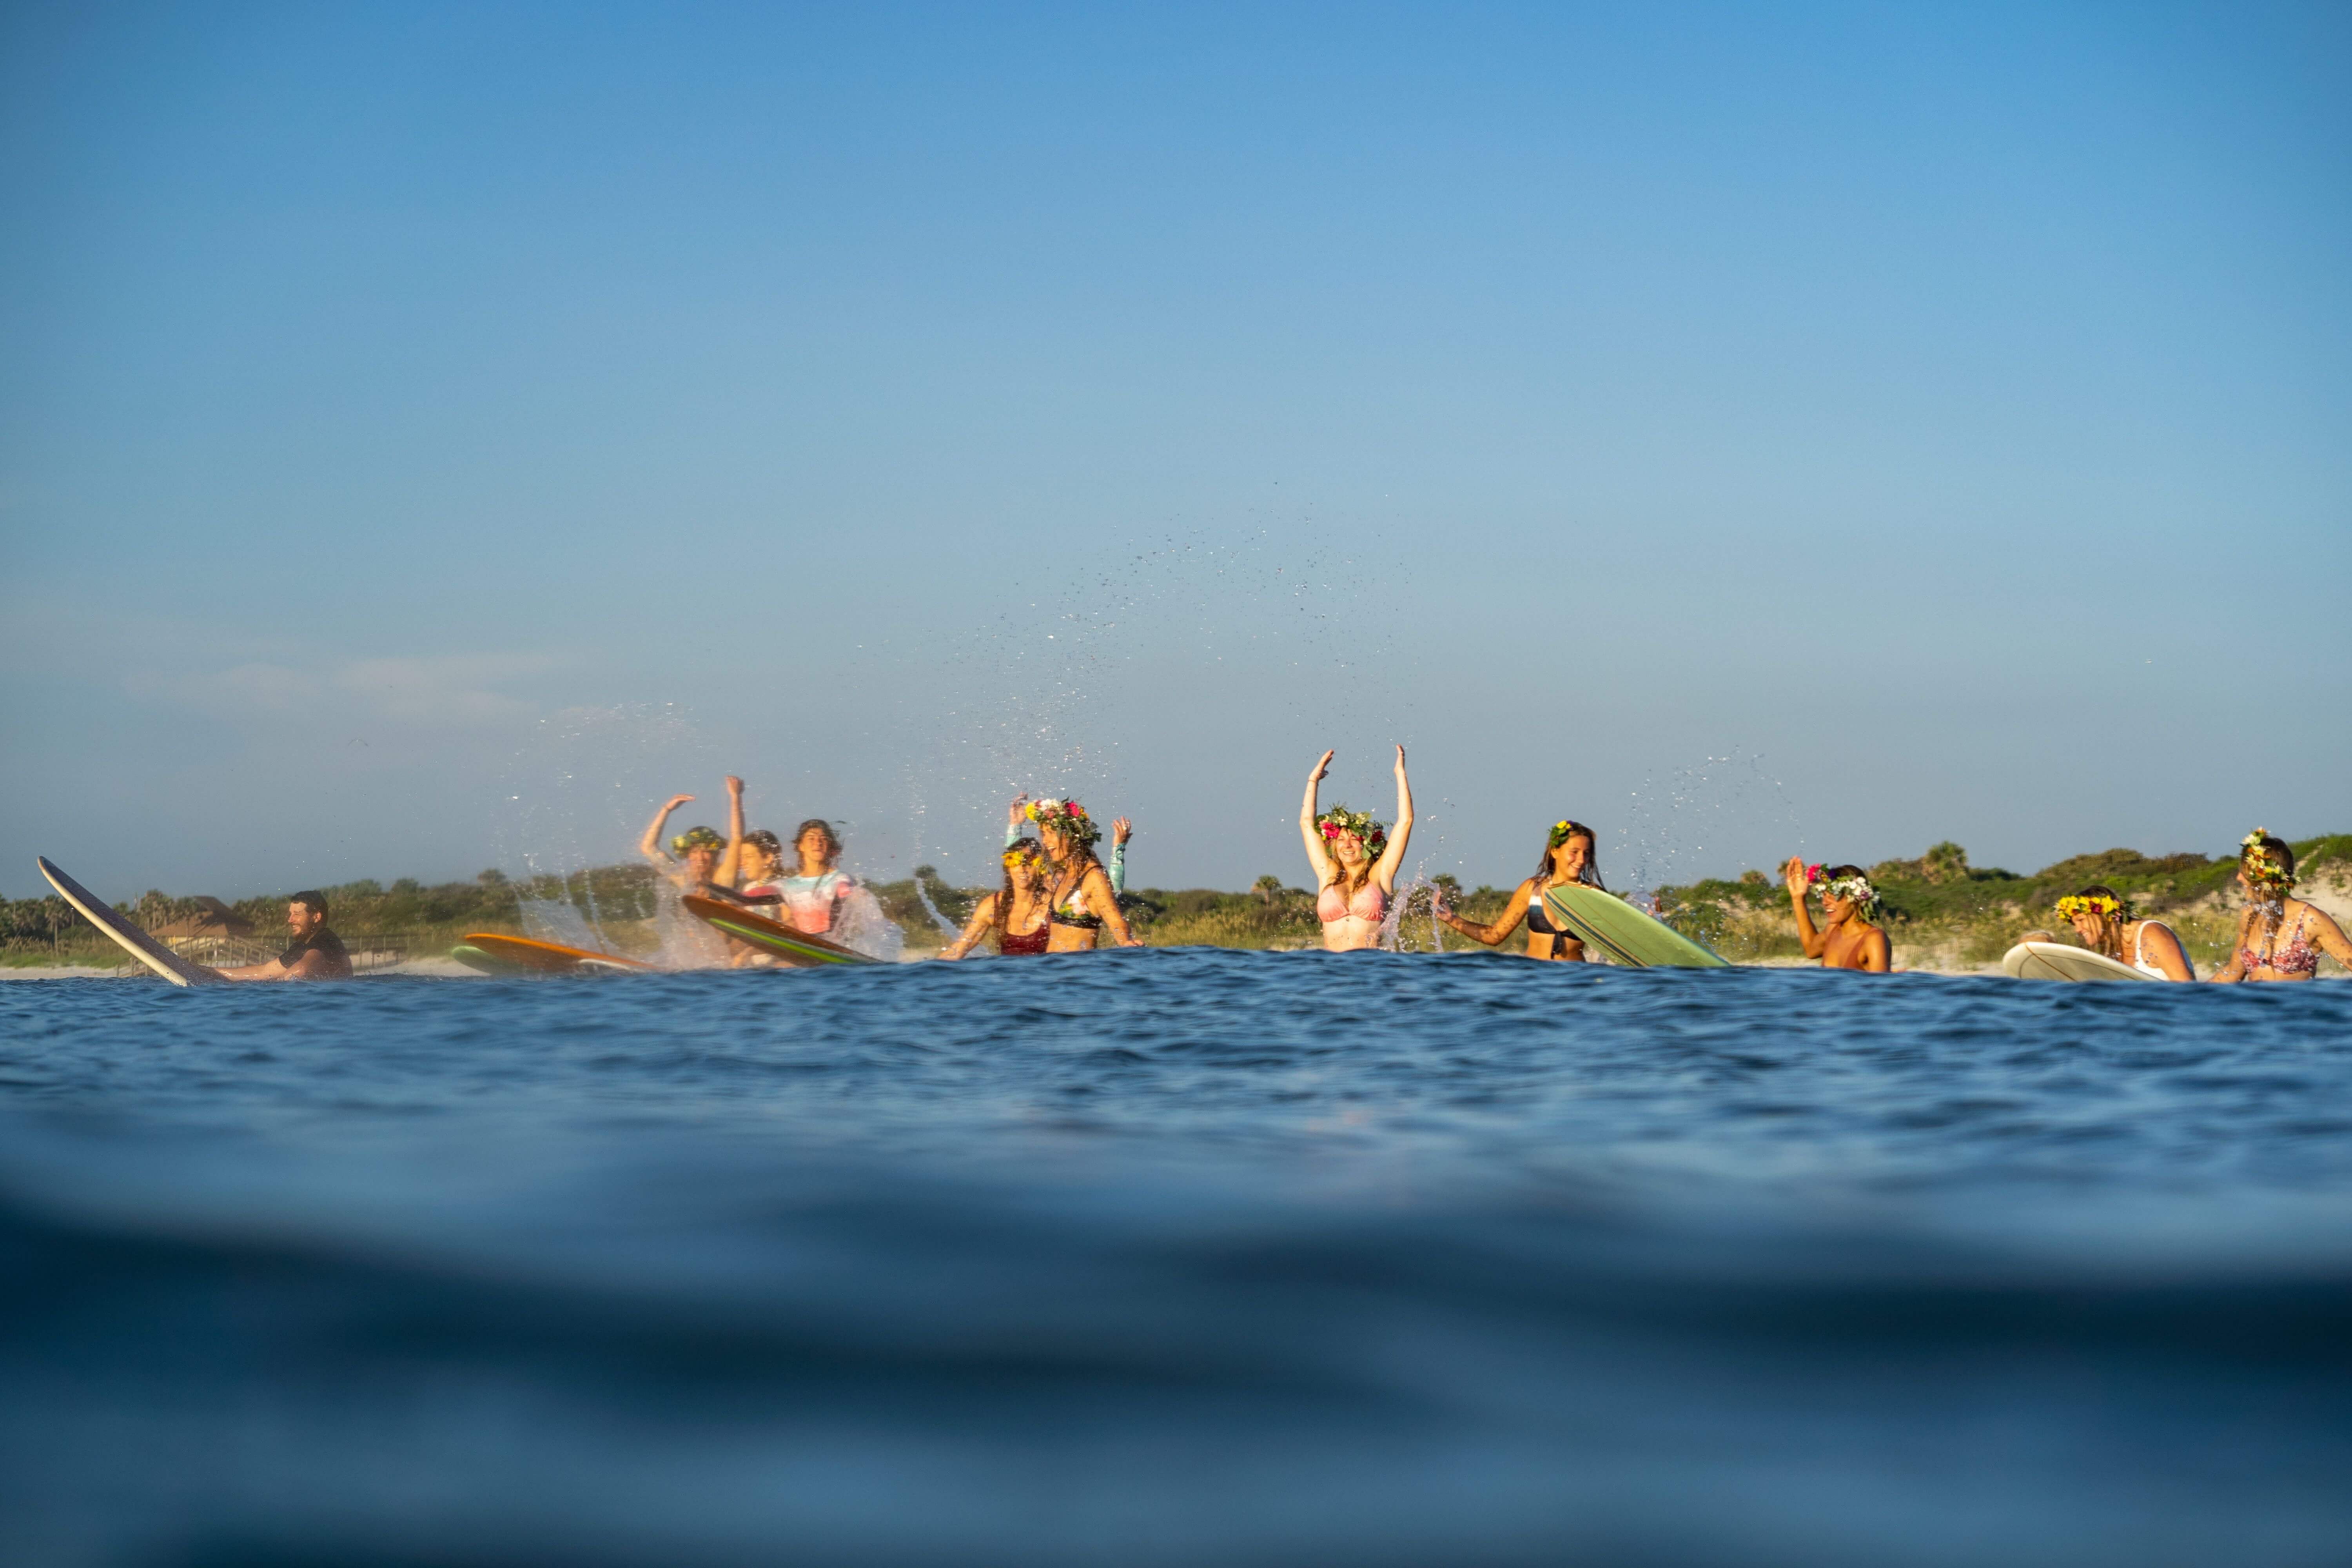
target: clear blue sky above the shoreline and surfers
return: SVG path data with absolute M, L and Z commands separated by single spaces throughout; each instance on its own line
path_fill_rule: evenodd
M 0 891 L 2352 827 L 2343 7 L 12 7 Z M 689 818 L 696 809 L 689 809 Z

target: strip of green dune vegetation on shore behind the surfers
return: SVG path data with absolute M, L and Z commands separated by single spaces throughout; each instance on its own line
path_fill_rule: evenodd
M 2300 839 L 2296 860 L 2303 893 L 2345 914 L 2352 891 L 2352 835 Z M 2107 849 L 2072 856 L 2032 875 L 1969 865 L 1959 844 L 1936 844 L 1917 860 L 1882 860 L 1870 879 L 1884 898 L 1884 919 L 1896 945 L 1898 969 L 1969 971 L 1999 961 L 2025 931 L 2039 929 L 2072 943 L 2051 905 L 2086 882 L 2105 882 L 2145 914 L 2166 919 L 2187 945 L 2199 973 L 2225 954 L 2237 929 L 2237 889 L 2230 882 L 2234 858 L 2171 853 L 2147 856 L 2136 849 Z M 917 879 L 922 882 L 917 891 Z M 1463 889 L 1454 877 L 1437 877 L 1446 898 L 1470 919 L 1494 919 L 1510 889 Z M 915 877 L 870 884 L 884 912 L 908 933 L 910 952 L 936 952 L 946 933 L 924 910 L 924 898 L 948 919 L 962 924 L 985 889 L 950 886 L 929 865 Z M 473 882 L 423 886 L 402 879 L 346 882 L 322 889 L 334 907 L 334 926 L 353 947 L 369 947 L 383 959 L 445 954 L 466 931 L 527 933 L 527 900 L 569 903 L 590 919 L 616 952 L 654 950 L 654 872 L 644 865 L 604 865 L 567 882 L 539 877 L 513 882 L 489 870 Z M 1802 961 L 1797 931 L 1788 914 L 1788 891 L 1778 877 L 1750 870 L 1733 882 L 1693 882 L 1656 891 L 1658 914 L 1740 964 Z M 1155 947 L 1312 947 L 1315 898 L 1308 889 L 1279 877 L 1258 877 L 1244 893 L 1216 889 L 1134 889 L 1127 917 L 1136 933 Z M 174 945 L 186 945 L 202 961 L 249 961 L 275 952 L 285 922 L 285 900 L 245 898 L 219 905 L 207 898 L 174 898 L 146 891 L 115 907 L 151 931 L 183 931 Z M 89 964 L 113 969 L 120 952 L 85 924 L 64 898 L 0 900 L 0 961 L 12 966 Z M 1402 945 L 1409 950 L 1479 952 L 1475 943 L 1437 931 L 1428 917 L 1428 884 L 1414 889 L 1402 922 Z M 1522 938 L 1503 952 L 1522 947 Z M 2336 964 L 2324 961 L 2321 973 Z

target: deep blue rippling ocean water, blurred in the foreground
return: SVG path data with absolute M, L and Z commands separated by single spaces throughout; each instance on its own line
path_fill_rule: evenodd
M 0 1561 L 2343 1563 L 2352 985 L 0 985 Z

